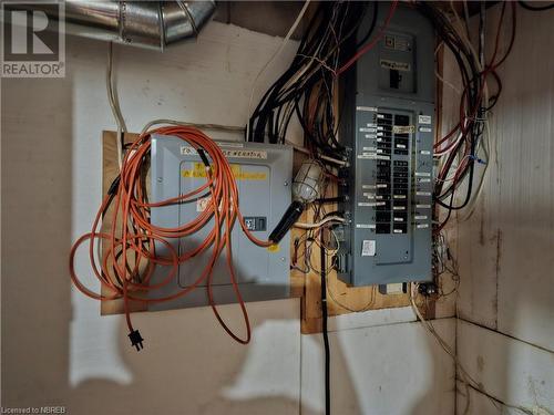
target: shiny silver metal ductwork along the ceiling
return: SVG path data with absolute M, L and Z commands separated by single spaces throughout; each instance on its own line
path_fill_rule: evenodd
M 65 31 L 86 38 L 164 50 L 195 38 L 215 11 L 215 1 L 65 0 Z M 38 7 L 51 18 L 58 8 Z

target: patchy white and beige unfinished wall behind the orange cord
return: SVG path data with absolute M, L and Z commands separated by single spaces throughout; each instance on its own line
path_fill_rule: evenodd
M 130 131 L 156 117 L 244 125 L 253 80 L 279 42 L 212 22 L 197 42 L 164 54 L 116 46 Z M 106 43 L 68 38 L 65 79 L 2 80 L 2 405 L 66 405 L 79 415 L 322 413 L 321 340 L 300 335 L 297 299 L 249 304 L 248 346 L 206 308 L 135 315 L 145 338 L 137 353 L 121 317 L 100 317 L 98 302 L 72 289 L 68 252 L 101 199 L 101 132 L 115 128 L 106 52 Z M 78 271 L 90 276 L 84 257 Z M 237 326 L 238 310 L 223 309 Z M 330 326 L 335 413 L 453 413 L 452 362 L 409 309 Z M 453 319 L 438 326 L 453 343 Z

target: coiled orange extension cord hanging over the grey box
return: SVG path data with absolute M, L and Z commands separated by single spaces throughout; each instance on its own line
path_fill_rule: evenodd
M 206 165 L 207 180 L 197 189 L 158 203 L 148 203 L 144 181 L 145 163 L 151 148 L 151 134 L 176 136 L 196 148 L 202 156 L 208 155 L 212 163 L 203 157 Z M 208 167 L 209 166 L 209 167 Z M 238 218 L 238 222 L 248 239 L 259 247 L 269 247 L 270 241 L 259 240 L 246 228 L 244 218 L 238 207 L 238 189 L 233 176 L 228 160 L 225 158 L 217 144 L 201 131 L 193 127 L 171 126 L 161 127 L 147 132 L 136 139 L 127 151 L 121 169 L 119 183 L 115 188 L 106 195 L 96 212 L 92 230 L 79 238 L 70 252 L 70 274 L 75 287 L 85 295 L 100 301 L 110 301 L 123 298 L 125 318 L 129 330 L 134 332 L 131 323 L 129 302 L 140 301 L 143 303 L 171 301 L 187 294 L 205 280 L 209 304 L 217 321 L 225 331 L 237 342 L 246 344 L 250 341 L 250 323 L 246 305 L 243 301 L 233 267 L 230 232 Z M 112 186 L 115 187 L 115 186 Z M 191 198 L 202 195 L 211 195 L 206 209 L 198 214 L 189 222 L 176 228 L 156 227 L 150 221 L 150 209 L 153 207 L 167 206 L 191 201 Z M 100 232 L 104 211 L 113 201 L 112 227 L 110 232 Z M 168 240 L 191 236 L 214 219 L 213 227 L 207 237 L 196 248 L 178 255 Z M 109 241 L 109 248 L 103 252 L 102 263 L 96 263 L 94 246 L 99 240 Z M 110 293 L 102 294 L 86 288 L 75 273 L 74 259 L 78 248 L 89 241 L 89 256 L 91 267 L 100 280 L 102 287 Z M 155 251 L 155 241 L 165 246 L 170 252 L 168 257 L 158 256 Z M 223 250 L 226 250 L 226 262 L 229 271 L 230 282 L 240 305 L 246 325 L 246 338 L 236 335 L 224 322 L 214 302 L 212 280 L 214 266 Z M 183 288 L 175 293 L 161 298 L 145 298 L 144 293 L 154 291 L 170 283 L 177 276 L 178 264 L 198 256 L 208 255 L 209 262 L 189 287 Z M 130 259 L 134 258 L 134 259 Z M 131 262 L 131 263 L 130 263 Z M 141 266 L 146 266 L 140 274 Z M 171 266 L 167 276 L 155 284 L 150 280 L 157 266 Z M 141 339 L 142 341 L 142 339 Z

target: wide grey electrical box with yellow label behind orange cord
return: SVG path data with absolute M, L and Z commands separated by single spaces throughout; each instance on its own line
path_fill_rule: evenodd
M 267 240 L 290 204 L 293 173 L 293 148 L 281 145 L 258 143 L 218 142 L 232 165 L 238 187 L 240 211 L 246 225 L 258 239 Z M 153 135 L 152 137 L 152 200 L 161 201 L 189 193 L 206 183 L 204 164 L 196 151 L 177 137 Z M 206 198 L 198 197 L 189 203 L 152 209 L 152 225 L 177 227 L 198 216 L 205 209 Z M 168 240 L 183 253 L 197 247 L 209 230 L 213 219 L 196 234 L 179 240 Z M 233 262 L 245 301 L 260 301 L 287 298 L 289 295 L 290 237 L 281 240 L 277 248 L 261 248 L 244 235 L 238 220 L 232 232 Z M 156 245 L 164 252 L 162 243 Z M 160 290 L 153 290 L 151 298 L 173 294 L 189 287 L 201 277 L 212 249 L 191 258 L 178 267 L 178 278 Z M 161 282 L 167 274 L 167 267 L 158 267 L 153 283 Z M 187 294 L 164 303 L 152 303 L 150 310 L 175 309 L 208 304 L 206 282 Z M 213 292 L 216 303 L 236 301 L 230 286 L 223 251 L 213 272 Z

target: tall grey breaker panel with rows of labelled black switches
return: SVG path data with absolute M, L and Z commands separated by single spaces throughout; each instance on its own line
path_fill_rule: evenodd
M 371 6 L 375 7 L 375 6 Z M 379 3 L 376 28 L 389 3 Z M 359 34 L 366 33 L 372 10 Z M 351 286 L 431 280 L 434 34 L 399 6 L 384 35 L 342 81 L 340 139 L 351 149 L 339 278 Z M 352 53 L 355 51 L 351 51 Z

